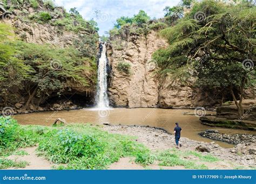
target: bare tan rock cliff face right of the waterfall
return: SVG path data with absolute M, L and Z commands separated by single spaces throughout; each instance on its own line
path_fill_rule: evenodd
M 193 108 L 219 102 L 213 92 L 210 95 L 180 85 L 170 88 L 170 77 L 157 77 L 157 63 L 152 60 L 152 54 L 167 45 L 166 40 L 153 30 L 146 36 L 124 32 L 112 38 L 107 46 L 107 56 L 112 66 L 109 97 L 113 106 Z M 119 62 L 130 63 L 129 74 L 118 70 Z

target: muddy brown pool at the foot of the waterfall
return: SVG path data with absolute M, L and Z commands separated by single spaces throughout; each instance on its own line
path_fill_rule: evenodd
M 112 110 L 95 110 L 85 108 L 80 110 L 71 111 L 46 111 L 46 112 L 33 112 L 31 114 L 15 115 L 15 119 L 20 124 L 24 125 L 51 125 L 55 119 L 65 119 L 67 123 L 90 123 L 90 124 L 103 124 L 111 123 L 114 125 L 149 125 L 158 128 L 163 128 L 172 133 L 174 123 L 179 122 L 182 128 L 181 137 L 187 137 L 193 140 L 211 142 L 213 140 L 203 138 L 198 135 L 206 129 L 218 130 L 220 133 L 248 133 L 255 134 L 253 131 L 227 129 L 227 128 L 214 128 L 211 126 L 203 125 L 200 123 L 199 118 L 193 115 L 183 115 L 183 112 L 194 112 L 194 110 L 187 109 L 156 109 L 156 108 L 113 108 Z M 213 113 L 213 112 L 210 112 Z M 223 147 L 233 147 L 232 144 L 215 141 Z

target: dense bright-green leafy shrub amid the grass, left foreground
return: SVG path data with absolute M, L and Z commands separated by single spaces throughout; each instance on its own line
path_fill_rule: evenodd
M 38 150 L 44 151 L 45 155 L 57 164 L 66 164 L 82 157 L 90 159 L 104 151 L 104 145 L 97 138 L 67 129 L 54 130 L 49 132 L 46 137 L 49 141 L 42 141 Z

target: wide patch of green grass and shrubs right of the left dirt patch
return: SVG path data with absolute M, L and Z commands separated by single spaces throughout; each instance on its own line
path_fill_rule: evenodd
M 46 133 L 38 151 L 58 169 L 104 169 L 120 157 L 149 152 L 130 137 L 113 135 L 90 125 L 73 124 Z

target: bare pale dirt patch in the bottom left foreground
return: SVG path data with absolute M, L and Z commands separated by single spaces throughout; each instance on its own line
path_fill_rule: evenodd
M 26 161 L 29 165 L 25 168 L 9 168 L 9 169 L 51 169 L 52 164 L 44 159 L 43 157 L 38 157 L 36 155 L 37 146 L 21 148 L 18 151 L 25 151 L 28 155 L 10 155 L 8 159 L 16 161 Z

